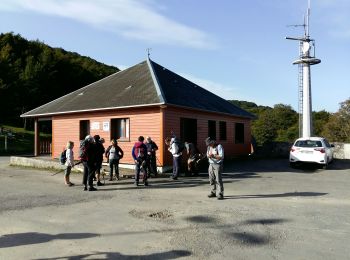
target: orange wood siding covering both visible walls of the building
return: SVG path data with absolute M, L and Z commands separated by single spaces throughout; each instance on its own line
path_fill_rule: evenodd
M 133 164 L 131 150 L 137 138 L 140 135 L 150 136 L 158 145 L 157 165 L 172 165 L 172 156 L 167 151 L 164 139 L 170 136 L 173 130 L 180 137 L 180 118 L 192 118 L 197 120 L 197 144 L 200 151 L 205 152 L 204 140 L 208 136 L 208 120 L 216 121 L 216 133 L 219 138 L 219 121 L 226 122 L 227 140 L 218 140 L 224 146 L 225 157 L 235 157 L 250 153 L 251 143 L 251 120 L 229 115 L 220 115 L 195 111 L 171 106 L 150 107 L 150 108 L 131 108 L 125 110 L 111 110 L 99 112 L 76 113 L 70 115 L 56 115 L 52 117 L 52 156 L 58 158 L 61 151 L 65 148 L 67 141 L 73 141 L 74 156 L 78 159 L 79 155 L 79 135 L 80 120 L 90 121 L 90 134 L 100 135 L 106 140 L 104 146 L 110 145 L 110 131 L 103 131 L 103 122 L 111 122 L 111 119 L 129 118 L 130 122 L 130 140 L 119 140 L 119 146 L 124 151 L 124 158 L 121 163 Z M 100 129 L 92 130 L 93 123 L 98 122 Z M 244 124 L 244 144 L 235 144 L 235 123 Z M 110 125 L 111 127 L 111 125 Z

